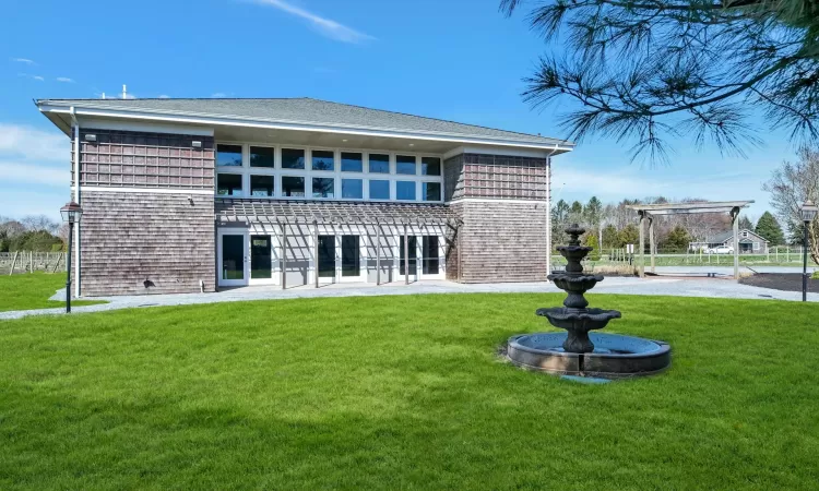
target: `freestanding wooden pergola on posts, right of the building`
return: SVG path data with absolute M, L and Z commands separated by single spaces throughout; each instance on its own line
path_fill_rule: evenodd
M 645 277 L 645 221 L 649 221 L 649 250 L 651 272 L 655 272 L 656 244 L 654 242 L 654 217 L 662 215 L 690 215 L 695 213 L 727 213 L 734 228 L 734 278 L 739 279 L 739 211 L 753 203 L 748 201 L 711 201 L 703 203 L 664 203 L 629 205 L 640 216 L 640 277 Z

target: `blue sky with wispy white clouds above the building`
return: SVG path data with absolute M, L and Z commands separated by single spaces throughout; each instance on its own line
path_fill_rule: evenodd
M 143 0 L 138 4 L 5 0 L 0 19 L 0 215 L 59 218 L 69 197 L 69 140 L 36 98 L 313 97 L 566 137 L 557 115 L 521 97 L 547 47 L 524 12 L 498 0 Z M 667 164 L 632 163 L 633 142 L 589 139 L 554 161 L 555 200 L 664 195 L 755 200 L 795 151 L 753 120 L 747 158 L 670 140 Z

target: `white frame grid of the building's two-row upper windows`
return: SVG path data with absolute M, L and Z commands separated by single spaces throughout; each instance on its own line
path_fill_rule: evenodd
M 358 148 L 327 148 L 327 147 L 307 147 L 299 145 L 286 145 L 278 143 L 239 143 L 239 142 L 217 142 L 217 145 L 240 145 L 242 148 L 242 165 L 241 166 L 217 166 L 216 167 L 216 181 L 218 181 L 218 175 L 232 173 L 240 175 L 242 177 L 241 192 L 234 194 L 232 197 L 249 197 L 259 200 L 322 200 L 322 201 L 390 201 L 390 202 L 414 202 L 414 203 L 442 203 L 443 196 L 440 195 L 439 200 L 426 201 L 426 189 L 428 183 L 440 184 L 441 193 L 443 190 L 443 156 L 436 154 L 424 154 L 413 152 L 387 152 L 387 151 L 368 151 Z M 271 148 L 274 154 L 273 167 L 251 167 L 250 166 L 250 147 L 264 147 Z M 305 168 L 283 168 L 282 167 L 282 151 L 301 151 L 304 152 Z M 333 169 L 332 170 L 313 170 L 312 159 L 313 152 L 332 152 L 333 153 Z M 361 154 L 361 171 L 349 171 L 342 170 L 342 154 Z M 370 172 L 369 171 L 369 155 L 388 155 L 389 156 L 389 172 Z M 415 158 L 415 173 L 397 173 L 397 157 L 414 157 Z M 439 175 L 430 176 L 424 173 L 424 169 L 427 161 L 438 159 Z M 252 196 L 251 195 L 251 176 L 272 176 L 273 181 L 273 195 L 271 196 Z M 284 189 L 282 185 L 283 177 L 300 177 L 305 180 L 304 196 L 285 196 Z M 330 178 L 333 179 L 332 196 L 333 197 L 319 197 L 313 196 L 312 182 L 313 178 Z M 363 197 L 344 197 L 342 195 L 342 182 L 343 180 L 360 179 L 363 188 Z M 370 197 L 370 181 L 389 181 L 390 196 L 389 199 Z M 415 199 L 414 200 L 397 200 L 397 182 L 399 181 L 412 181 L 415 184 Z M 404 184 L 405 185 L 405 184 Z

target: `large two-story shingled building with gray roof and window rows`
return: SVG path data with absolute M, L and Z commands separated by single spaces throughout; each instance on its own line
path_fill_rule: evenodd
M 36 104 L 72 142 L 75 296 L 546 279 L 571 143 L 310 98 Z

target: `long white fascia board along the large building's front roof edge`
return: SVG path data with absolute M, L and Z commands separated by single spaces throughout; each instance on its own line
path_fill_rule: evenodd
M 67 106 L 55 106 L 55 105 L 41 105 L 39 106 L 43 112 L 66 112 L 68 113 L 69 108 Z M 343 124 L 327 125 L 327 124 L 311 124 L 301 122 L 287 122 L 287 121 L 263 121 L 263 120 L 247 120 L 230 117 L 219 117 L 210 115 L 179 115 L 179 113 L 161 113 L 158 111 L 153 112 L 135 112 L 135 111 L 117 111 L 102 108 L 83 108 L 74 106 L 74 110 L 78 115 L 86 117 L 102 117 L 102 118 L 121 118 L 121 119 L 138 119 L 138 120 L 150 120 L 161 121 L 170 123 L 187 123 L 187 124 L 205 124 L 205 125 L 232 125 L 232 127 L 246 127 L 246 128 L 262 128 L 269 130 L 293 130 L 293 131 L 314 131 L 322 133 L 337 133 L 337 134 L 355 134 L 361 136 L 383 136 L 393 139 L 405 139 L 405 140 L 425 140 L 434 142 L 451 142 L 462 144 L 474 144 L 474 145 L 496 145 L 496 146 L 508 146 L 519 148 L 538 148 L 545 151 L 562 151 L 570 152 L 574 149 L 573 145 L 570 144 L 555 144 L 555 143 L 533 143 L 518 140 L 505 140 L 505 139 L 492 139 L 492 137 L 471 137 L 448 133 L 411 133 L 400 130 L 390 129 L 363 129 L 357 127 L 347 127 Z

